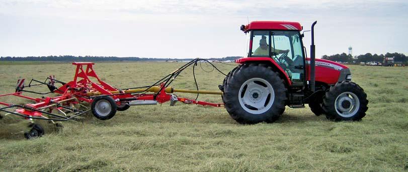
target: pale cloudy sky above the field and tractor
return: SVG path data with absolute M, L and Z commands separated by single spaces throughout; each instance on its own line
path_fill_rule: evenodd
M 316 57 L 408 55 L 406 0 L 0 0 L 0 56 L 243 56 L 249 21 L 317 21 Z

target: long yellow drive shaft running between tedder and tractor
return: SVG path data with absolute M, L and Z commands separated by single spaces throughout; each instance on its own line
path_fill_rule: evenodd
M 153 86 L 149 89 L 129 89 L 129 90 L 124 90 L 124 93 L 141 93 L 141 92 L 152 92 L 152 93 L 157 93 L 160 90 L 160 87 L 158 86 Z M 199 94 L 208 94 L 208 95 L 222 95 L 222 92 L 216 92 L 216 91 L 197 91 L 197 90 L 181 90 L 181 89 L 173 89 L 172 87 L 167 87 L 165 89 L 166 93 L 174 93 L 174 92 L 180 92 L 180 93 L 199 93 Z M 112 91 L 110 92 L 112 94 L 119 94 L 119 91 Z M 87 96 L 99 96 L 101 95 L 100 92 L 88 92 Z

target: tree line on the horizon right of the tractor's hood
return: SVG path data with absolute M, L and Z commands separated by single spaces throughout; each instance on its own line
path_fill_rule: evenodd
M 340 62 L 349 62 L 349 63 L 358 63 L 358 62 L 369 62 L 369 61 L 376 61 L 382 62 L 384 57 L 394 57 L 395 62 L 406 63 L 408 61 L 408 57 L 402 53 L 386 53 L 384 54 L 361 54 L 353 58 L 352 55 L 342 53 L 342 54 L 335 54 L 335 55 L 323 55 L 321 56 L 322 59 L 331 60 L 331 61 L 340 61 Z

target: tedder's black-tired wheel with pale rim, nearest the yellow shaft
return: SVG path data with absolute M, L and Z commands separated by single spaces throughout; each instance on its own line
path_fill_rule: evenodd
M 116 114 L 116 102 L 110 96 L 97 97 L 91 105 L 92 114 L 100 120 L 111 119 Z

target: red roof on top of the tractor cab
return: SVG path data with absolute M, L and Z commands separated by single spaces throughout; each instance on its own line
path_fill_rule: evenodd
M 278 21 L 256 21 L 241 27 L 243 32 L 248 32 L 250 30 L 302 30 L 297 22 L 278 22 Z

